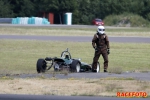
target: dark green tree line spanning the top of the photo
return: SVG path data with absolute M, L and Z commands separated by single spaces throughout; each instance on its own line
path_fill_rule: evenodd
M 91 24 L 94 18 L 124 12 L 150 21 L 150 0 L 0 0 L 0 18 L 38 16 L 39 12 L 72 12 L 73 24 Z

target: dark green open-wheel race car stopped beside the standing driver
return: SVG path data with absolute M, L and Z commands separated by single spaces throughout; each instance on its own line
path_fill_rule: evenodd
M 68 48 L 61 53 L 61 57 L 46 57 L 45 59 L 40 58 L 37 60 L 36 69 L 38 73 L 45 72 L 51 68 L 54 71 L 68 70 L 70 72 L 90 72 L 92 71 L 91 64 L 81 62 L 80 59 L 73 59 L 71 57 Z M 100 71 L 100 64 L 97 63 L 96 72 Z

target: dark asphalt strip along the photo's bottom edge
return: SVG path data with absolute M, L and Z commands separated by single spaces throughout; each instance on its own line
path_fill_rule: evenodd
M 0 100 L 149 100 L 149 98 L 115 98 L 93 96 L 45 96 L 0 94 Z

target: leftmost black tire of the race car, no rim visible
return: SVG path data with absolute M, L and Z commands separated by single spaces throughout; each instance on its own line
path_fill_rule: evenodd
M 44 59 L 38 59 L 37 64 L 36 64 L 36 69 L 38 73 L 45 72 L 46 62 Z

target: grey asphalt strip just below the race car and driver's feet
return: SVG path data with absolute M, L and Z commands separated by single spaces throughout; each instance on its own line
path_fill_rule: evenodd
M 1 75 L 0 75 L 1 76 Z M 8 75 L 9 76 L 9 75 Z M 47 73 L 40 73 L 40 74 L 17 74 L 17 75 L 11 75 L 12 78 L 35 78 L 44 76 L 45 78 L 52 78 L 54 77 L 53 74 L 47 74 Z M 92 72 L 81 72 L 81 73 L 69 73 L 67 75 L 65 74 L 55 74 L 55 78 L 57 79 L 68 79 L 68 78 L 91 78 L 91 79 L 101 79 L 101 78 L 133 78 L 136 80 L 144 80 L 144 81 L 150 81 L 150 72 L 145 73 L 135 73 L 135 72 L 123 72 L 121 74 L 115 74 L 115 73 L 92 73 Z

